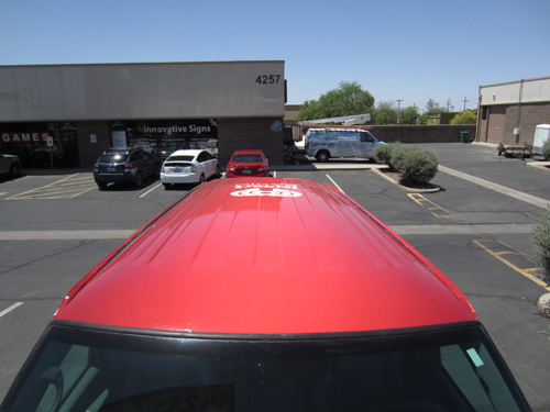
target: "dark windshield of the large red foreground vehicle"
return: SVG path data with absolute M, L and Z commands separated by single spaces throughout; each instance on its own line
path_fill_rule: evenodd
M 135 331 L 134 331 L 135 332 Z M 1 411 L 520 411 L 477 323 L 373 336 L 186 338 L 51 326 Z

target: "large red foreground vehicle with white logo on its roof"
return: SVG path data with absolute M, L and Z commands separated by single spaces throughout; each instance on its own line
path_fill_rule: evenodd
M 63 299 L 0 411 L 530 411 L 464 294 L 326 183 L 218 179 Z

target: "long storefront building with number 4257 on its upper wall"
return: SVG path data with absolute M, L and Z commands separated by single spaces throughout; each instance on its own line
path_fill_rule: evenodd
M 258 148 L 283 164 L 283 60 L 0 66 L 1 151 L 91 168 L 109 147 Z

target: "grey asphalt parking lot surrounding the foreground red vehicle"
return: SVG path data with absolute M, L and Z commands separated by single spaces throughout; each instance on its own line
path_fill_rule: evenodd
M 466 293 L 534 410 L 550 411 L 550 322 L 535 305 L 546 290 L 520 275 L 532 266 L 529 235 L 550 203 L 550 169 L 498 156 L 496 146 L 427 146 L 440 164 L 432 180 L 440 190 L 429 194 L 391 185 L 370 170 L 381 167 L 372 162 L 273 171 L 339 187 L 433 261 Z M 10 309 L 0 318 L 0 400 L 64 293 L 187 192 L 164 191 L 156 181 L 98 191 L 89 170 L 23 171 L 30 179 L 0 182 L 0 312 Z M 69 191 L 75 180 L 78 192 Z

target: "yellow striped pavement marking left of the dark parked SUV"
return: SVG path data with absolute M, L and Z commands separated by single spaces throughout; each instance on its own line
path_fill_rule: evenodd
M 53 183 L 25 191 L 4 200 L 59 200 L 73 199 L 96 188 L 92 177 L 70 175 Z

